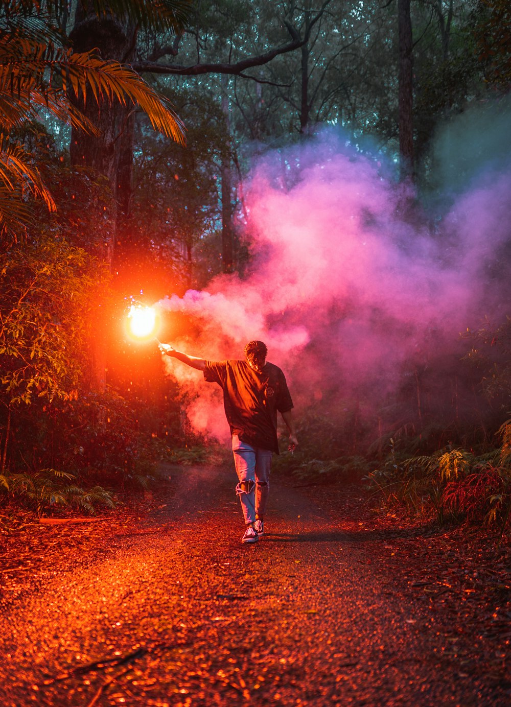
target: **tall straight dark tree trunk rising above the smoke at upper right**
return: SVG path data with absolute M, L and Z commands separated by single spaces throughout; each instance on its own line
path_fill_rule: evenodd
M 398 0 L 399 157 L 401 177 L 413 179 L 413 69 L 411 0 Z

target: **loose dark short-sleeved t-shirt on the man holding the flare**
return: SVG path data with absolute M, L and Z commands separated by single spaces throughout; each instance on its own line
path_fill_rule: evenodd
M 293 407 L 281 369 L 265 363 L 262 373 L 257 373 L 246 361 L 206 361 L 204 378 L 223 390 L 231 435 L 278 454 L 277 411 Z

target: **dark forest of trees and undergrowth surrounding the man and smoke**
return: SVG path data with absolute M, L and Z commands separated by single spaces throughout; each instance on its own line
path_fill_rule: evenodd
M 396 165 L 403 218 L 434 228 L 439 130 L 474 105 L 511 122 L 507 0 L 12 0 L 0 34 L 0 498 L 39 513 L 94 512 L 160 460 L 211 460 L 154 342 L 124 323 L 132 303 L 250 270 L 241 185 L 258 158 L 337 127 Z M 373 425 L 311 405 L 287 468 L 505 527 L 500 314 L 455 370 L 431 364 L 475 416 L 435 417 L 416 377 Z

